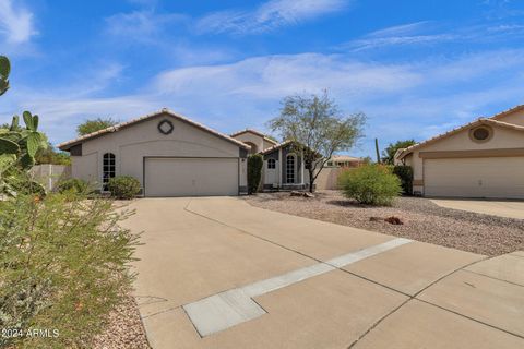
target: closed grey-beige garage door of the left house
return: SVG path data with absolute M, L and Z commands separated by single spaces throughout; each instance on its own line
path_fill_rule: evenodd
M 146 158 L 145 196 L 238 195 L 236 158 Z

